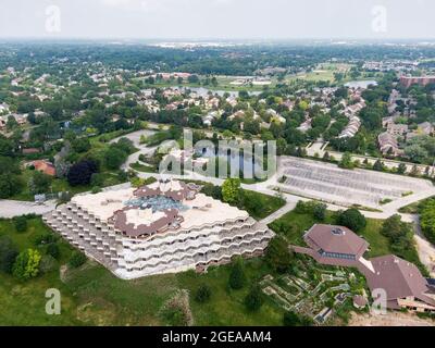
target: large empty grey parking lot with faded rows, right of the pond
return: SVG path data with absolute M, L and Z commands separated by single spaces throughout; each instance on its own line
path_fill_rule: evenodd
M 283 191 L 340 206 L 380 208 L 406 196 L 433 189 L 428 181 L 366 170 L 343 170 L 335 164 L 299 158 L 281 161 Z

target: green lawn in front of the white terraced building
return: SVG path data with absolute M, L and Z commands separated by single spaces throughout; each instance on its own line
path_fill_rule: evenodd
M 49 232 L 41 220 L 28 222 L 28 231 L 18 234 L 11 221 L 0 221 L 0 236 L 9 235 L 21 250 L 35 247 L 36 235 Z M 283 312 L 266 301 L 251 314 L 243 304 L 248 286 L 228 290 L 228 266 L 211 269 L 207 274 L 185 272 L 122 281 L 94 261 L 60 277 L 72 247 L 60 239 L 61 258 L 49 273 L 22 283 L 0 273 L 0 325 L 166 325 L 159 315 L 163 303 L 176 290 L 195 291 L 200 284 L 212 289 L 211 300 L 199 304 L 190 299 L 196 325 L 279 325 Z M 42 251 L 41 251 L 42 252 Z M 269 273 L 261 259 L 246 261 L 249 283 Z M 45 293 L 58 288 L 62 295 L 62 314 L 47 315 Z

